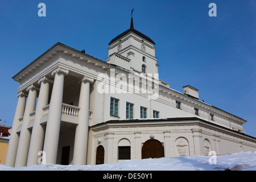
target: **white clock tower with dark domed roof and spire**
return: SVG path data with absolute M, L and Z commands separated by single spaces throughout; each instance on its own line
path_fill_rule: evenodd
M 110 41 L 106 61 L 139 75 L 154 75 L 158 73 L 154 46 L 152 39 L 134 29 L 131 17 L 130 28 Z

